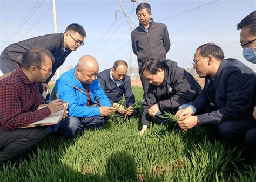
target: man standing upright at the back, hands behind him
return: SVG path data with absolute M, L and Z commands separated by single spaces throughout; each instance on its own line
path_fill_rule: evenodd
M 139 26 L 131 33 L 132 50 L 137 55 L 138 65 L 151 56 L 166 60 L 166 54 L 170 49 L 170 39 L 165 24 L 154 22 L 151 18 L 151 7 L 148 3 L 140 3 L 136 8 L 136 15 L 139 19 Z M 142 81 L 144 97 L 149 87 L 149 81 L 143 78 Z

